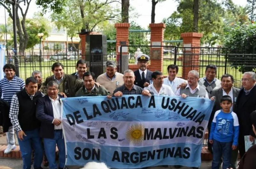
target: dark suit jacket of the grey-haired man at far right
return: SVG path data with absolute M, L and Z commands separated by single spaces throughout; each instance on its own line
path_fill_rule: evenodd
M 252 88 L 251 92 L 246 95 L 246 99 L 240 99 L 244 92 L 244 88 L 242 87 L 239 91 L 235 111 L 239 121 L 239 135 L 241 133 L 242 136 L 251 135 L 255 137 L 255 134 L 252 130 L 252 121 L 251 121 L 251 113 L 256 110 L 256 85 Z

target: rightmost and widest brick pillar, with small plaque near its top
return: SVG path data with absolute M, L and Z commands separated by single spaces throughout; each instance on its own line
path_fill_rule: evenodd
M 183 38 L 183 47 L 200 47 L 200 39 L 203 37 L 203 33 L 181 33 L 180 37 Z M 182 58 L 182 77 L 184 79 L 187 79 L 190 70 L 197 70 L 199 72 L 200 56 L 196 55 L 199 53 L 200 48 L 184 48 Z

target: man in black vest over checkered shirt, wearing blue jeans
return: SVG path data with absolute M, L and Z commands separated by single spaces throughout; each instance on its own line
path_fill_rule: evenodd
M 32 145 L 35 153 L 34 168 L 42 169 L 43 147 L 39 137 L 40 121 L 36 119 L 36 101 L 44 94 L 37 90 L 37 80 L 29 77 L 25 82 L 25 89 L 12 97 L 9 117 L 17 131 L 23 168 L 31 168 Z

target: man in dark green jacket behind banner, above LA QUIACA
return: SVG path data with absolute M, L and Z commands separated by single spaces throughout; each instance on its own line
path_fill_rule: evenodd
M 95 84 L 95 74 L 93 72 L 85 72 L 83 75 L 84 86 L 76 92 L 76 97 L 80 96 L 107 96 L 111 99 L 110 92 L 103 86 Z

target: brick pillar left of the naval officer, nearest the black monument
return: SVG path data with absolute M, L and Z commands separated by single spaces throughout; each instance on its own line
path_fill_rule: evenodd
M 120 65 L 120 46 L 129 45 L 129 23 L 116 23 L 116 62 L 117 65 Z M 122 48 L 122 57 L 129 57 L 129 49 L 127 47 Z M 129 59 L 128 59 L 129 60 Z M 128 64 L 122 62 L 122 69 L 128 69 Z M 127 68 L 126 68 L 127 67 Z M 122 70 L 119 70 L 122 72 Z

